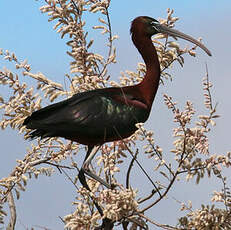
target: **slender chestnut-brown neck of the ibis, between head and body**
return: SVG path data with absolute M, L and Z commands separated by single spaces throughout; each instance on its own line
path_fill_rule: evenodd
M 132 40 L 146 64 L 146 74 L 137 87 L 143 100 L 151 108 L 160 81 L 160 64 L 157 52 L 151 38 L 148 36 L 133 34 Z

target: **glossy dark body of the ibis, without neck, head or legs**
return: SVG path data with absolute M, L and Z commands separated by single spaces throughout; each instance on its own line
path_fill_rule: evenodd
M 148 119 L 150 108 L 131 88 L 107 88 L 78 93 L 34 112 L 24 124 L 30 136 L 64 137 L 84 145 L 124 139 Z

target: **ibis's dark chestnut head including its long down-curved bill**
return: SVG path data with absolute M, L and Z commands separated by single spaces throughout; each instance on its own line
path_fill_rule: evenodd
M 192 38 L 191 36 L 184 34 L 178 30 L 171 29 L 165 25 L 162 25 L 154 18 L 148 17 L 148 16 L 140 16 L 135 18 L 132 21 L 131 34 L 140 34 L 151 37 L 152 35 L 162 33 L 167 34 L 169 36 L 182 38 L 184 40 L 190 41 L 194 43 L 195 45 L 199 46 L 201 49 L 203 49 L 209 56 L 211 56 L 211 52 L 199 41 Z

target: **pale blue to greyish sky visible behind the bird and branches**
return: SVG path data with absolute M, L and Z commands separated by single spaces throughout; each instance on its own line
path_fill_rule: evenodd
M 41 2 L 0 1 L 0 48 L 15 52 L 20 59 L 28 59 L 32 66 L 32 72 L 41 71 L 51 79 L 58 79 L 63 83 L 63 76 L 69 70 L 70 58 L 66 55 L 65 41 L 61 40 L 59 35 L 52 30 L 52 24 L 47 22 L 47 16 L 40 13 L 38 8 Z M 157 19 L 165 17 L 166 8 L 175 9 L 175 15 L 181 19 L 176 28 L 195 38 L 202 37 L 213 56 L 208 57 L 198 50 L 197 58 L 185 59 L 186 63 L 183 69 L 176 65 L 171 70 L 174 81 L 160 87 L 146 127 L 154 130 L 156 141 L 168 152 L 167 150 L 171 148 L 169 139 L 174 125 L 171 113 L 163 105 L 162 95 L 167 93 L 182 105 L 186 100 L 191 99 L 195 107 L 200 109 L 199 114 L 204 112 L 201 81 L 205 74 L 205 63 L 207 63 L 210 79 L 215 86 L 212 91 L 214 100 L 219 103 L 218 113 L 222 115 L 210 135 L 212 142 L 210 148 L 212 153 L 226 152 L 231 149 L 230 0 L 112 1 L 110 9 L 112 27 L 114 33 L 120 37 L 116 42 L 118 63 L 112 67 L 113 78 L 116 79 L 120 71 L 134 70 L 137 61 L 141 61 L 130 41 L 131 20 L 139 15 L 148 15 Z M 94 24 L 94 17 L 91 20 L 91 23 Z M 100 43 L 99 47 L 95 48 L 101 51 Z M 6 62 L 0 60 L 0 68 L 5 64 Z M 8 89 L 0 87 L 0 90 L 0 94 L 9 96 Z M 26 147 L 29 147 L 30 143 L 24 141 L 22 135 L 20 136 L 17 131 L 11 129 L 0 131 L 0 143 L 2 147 L 0 177 L 4 177 L 14 167 L 15 159 L 23 158 Z M 150 170 L 153 167 L 148 163 L 145 166 Z M 221 184 L 215 179 L 210 180 L 209 184 L 202 182 L 199 186 L 195 186 L 194 183 L 187 185 L 183 190 L 179 190 L 179 185 L 175 186 L 170 197 L 182 201 L 191 199 L 196 207 L 199 207 L 202 201 L 209 202 L 212 191 L 221 188 Z M 144 187 L 146 188 L 146 185 Z M 58 216 L 64 216 L 73 210 L 71 201 L 74 194 L 74 188 L 66 178 L 58 173 L 51 178 L 41 177 L 39 180 L 30 181 L 27 191 L 17 201 L 19 207 L 17 229 L 35 225 L 46 226 L 50 229 L 62 229 L 62 223 Z M 200 194 L 200 196 L 192 198 L 190 196 L 192 194 Z M 177 208 L 179 209 L 179 206 L 169 198 L 148 214 L 157 222 L 175 223 L 176 216 L 173 215 L 173 212 L 175 213 L 174 210 Z

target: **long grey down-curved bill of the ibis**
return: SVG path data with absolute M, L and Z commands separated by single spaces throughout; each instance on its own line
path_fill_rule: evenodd
M 201 49 L 203 49 L 209 56 L 212 56 L 211 52 L 201 42 L 197 41 L 196 39 L 192 38 L 191 36 L 187 34 L 184 34 L 178 30 L 170 29 L 169 27 L 165 25 L 161 25 L 161 24 L 158 24 L 157 29 L 160 33 L 168 34 L 173 37 L 179 37 L 187 41 L 190 41 L 194 43 L 195 45 L 199 46 Z

